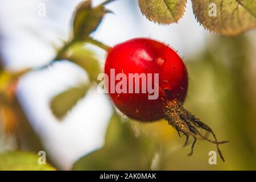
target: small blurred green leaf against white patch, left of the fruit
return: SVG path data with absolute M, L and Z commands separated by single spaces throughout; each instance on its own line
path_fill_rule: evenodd
M 60 93 L 50 103 L 52 113 L 59 119 L 63 118 L 82 97 L 85 96 L 90 84 L 83 84 Z

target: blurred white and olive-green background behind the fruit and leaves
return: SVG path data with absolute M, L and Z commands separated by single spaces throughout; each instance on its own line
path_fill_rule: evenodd
M 167 122 L 142 123 L 117 114 L 96 84 L 61 121 L 56 118 L 49 106 L 52 98 L 90 82 L 89 72 L 68 60 L 36 68 L 53 60 L 56 48 L 70 38 L 80 2 L 0 0 L 1 73 L 35 68 L 19 79 L 16 96 L 1 96 L 0 152 L 44 150 L 47 162 L 61 170 L 256 169 L 256 31 L 229 38 L 210 34 L 196 21 L 190 1 L 179 23 L 160 26 L 141 14 L 137 0 L 117 0 L 106 6 L 113 13 L 105 15 L 91 36 L 108 46 L 150 37 L 178 50 L 189 73 L 184 107 L 212 127 L 219 140 L 230 140 L 220 146 L 225 163 L 218 157 L 217 165 L 209 164 L 208 153 L 216 146 L 203 140 L 187 156 L 190 146 L 182 147 L 184 137 Z M 45 15 L 40 12 L 44 8 Z M 84 47 L 102 69 L 106 52 Z M 0 77 L 0 87 L 5 79 Z

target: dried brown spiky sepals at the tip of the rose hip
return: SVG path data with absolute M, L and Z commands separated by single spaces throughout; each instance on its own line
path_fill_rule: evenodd
M 199 118 L 196 118 L 195 115 L 191 114 L 188 110 L 184 109 L 184 107 L 179 104 L 177 101 L 168 102 L 166 109 L 164 110 L 164 118 L 168 121 L 168 123 L 177 130 L 177 133 L 180 136 L 184 134 L 186 137 L 184 146 L 187 146 L 189 137 L 193 137 L 193 143 L 191 146 L 191 152 L 188 155 L 193 154 L 194 146 L 197 139 L 207 140 L 210 143 L 214 143 L 217 146 L 218 154 L 220 158 L 224 160 L 224 157 L 218 147 L 219 144 L 227 143 L 229 141 L 221 141 L 218 142 L 216 135 L 213 133 L 212 129 L 205 123 L 201 122 Z M 213 139 L 208 138 L 208 135 L 203 135 L 200 133 L 200 129 L 203 129 L 207 132 L 207 134 L 212 134 Z

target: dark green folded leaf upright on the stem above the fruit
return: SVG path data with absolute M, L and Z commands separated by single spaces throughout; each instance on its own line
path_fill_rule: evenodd
M 103 5 L 92 8 L 92 1 L 82 2 L 76 10 L 73 20 L 73 34 L 75 39 L 85 40 L 89 34 L 97 29 L 104 15 L 108 11 Z

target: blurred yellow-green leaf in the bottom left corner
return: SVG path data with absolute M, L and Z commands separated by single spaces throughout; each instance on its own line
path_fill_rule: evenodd
M 49 164 L 38 164 L 40 156 L 31 152 L 13 151 L 0 154 L 0 171 L 54 171 Z

